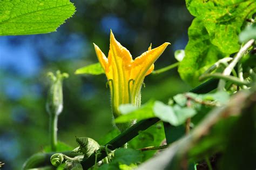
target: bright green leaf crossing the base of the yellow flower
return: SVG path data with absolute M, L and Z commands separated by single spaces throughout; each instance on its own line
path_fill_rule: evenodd
M 143 120 L 143 119 L 153 118 L 154 117 L 154 113 L 152 110 L 153 105 L 154 105 L 153 100 L 148 101 L 146 104 L 142 105 L 137 110 L 133 110 L 134 108 L 132 108 L 131 105 L 122 105 L 122 107 L 120 107 L 120 112 L 123 115 L 120 115 L 114 121 L 116 123 L 125 123 L 134 119 Z M 126 109 L 129 111 L 132 111 L 132 110 L 133 111 L 128 113 Z

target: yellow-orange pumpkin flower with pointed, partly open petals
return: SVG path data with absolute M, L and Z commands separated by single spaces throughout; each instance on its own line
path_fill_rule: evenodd
M 114 38 L 112 31 L 110 32 L 110 50 L 107 58 L 99 47 L 93 43 L 99 63 L 105 71 L 110 86 L 114 118 L 120 115 L 119 106 L 121 104 L 140 106 L 140 89 L 143 80 L 145 76 L 153 71 L 153 63 L 169 44 L 164 43 L 152 50 L 150 46 L 148 51 L 133 60 L 130 52 Z M 127 126 L 131 124 L 133 123 L 131 122 Z M 123 125 L 122 127 L 117 126 L 120 131 L 127 128 Z

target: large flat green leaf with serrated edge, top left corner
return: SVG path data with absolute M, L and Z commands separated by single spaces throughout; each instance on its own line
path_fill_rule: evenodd
M 0 35 L 56 31 L 74 12 L 75 6 L 69 0 L 0 1 Z

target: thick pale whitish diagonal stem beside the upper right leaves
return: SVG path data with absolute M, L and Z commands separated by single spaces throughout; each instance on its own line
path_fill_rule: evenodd
M 234 69 L 235 65 L 239 62 L 239 60 L 244 56 L 246 51 L 254 44 L 254 39 L 249 40 L 244 46 L 241 47 L 241 49 L 238 51 L 237 55 L 234 57 L 230 65 L 226 67 L 226 69 L 223 72 L 223 76 L 229 76 L 232 70 Z M 224 90 L 226 81 L 225 80 L 220 80 L 218 89 L 219 90 Z

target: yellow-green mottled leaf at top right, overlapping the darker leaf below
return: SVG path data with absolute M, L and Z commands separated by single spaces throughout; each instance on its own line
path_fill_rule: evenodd
M 247 17 L 256 11 L 256 3 L 251 1 L 199 1 L 187 0 L 191 14 L 203 19 L 204 26 L 210 35 L 211 43 L 224 53 L 239 50 L 238 35 Z

